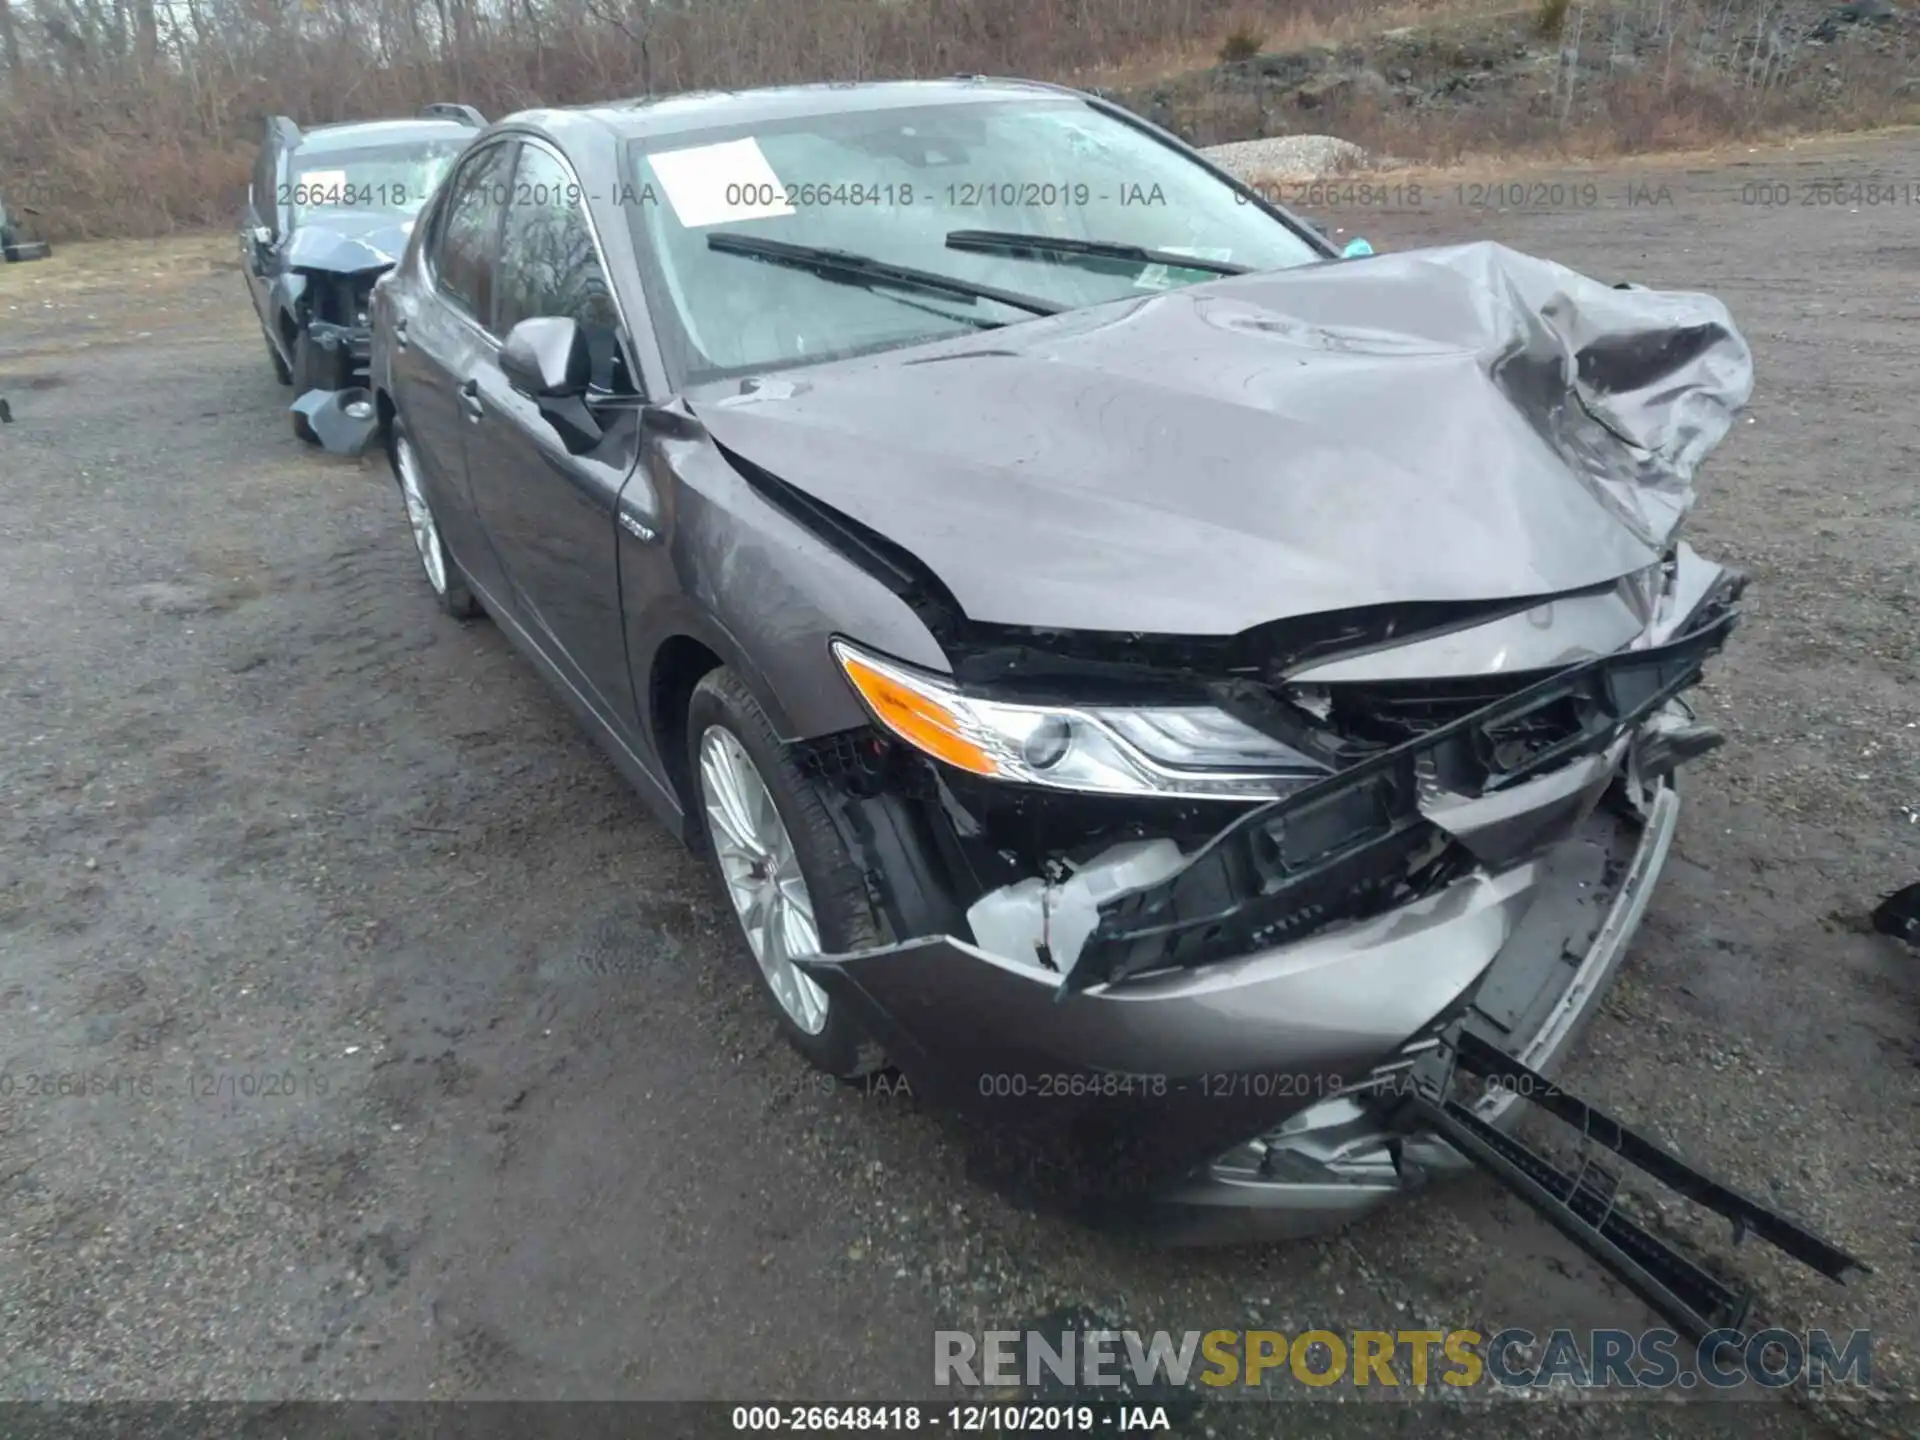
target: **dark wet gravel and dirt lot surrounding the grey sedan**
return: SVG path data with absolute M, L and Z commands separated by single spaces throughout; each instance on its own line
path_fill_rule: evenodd
M 1874 1327 L 1912 1392 L 1920 956 L 1862 918 L 1920 877 L 1920 136 L 1463 184 L 1505 179 L 1563 188 L 1308 209 L 1716 292 L 1761 374 L 1692 526 L 1753 574 L 1705 689 L 1730 745 L 1571 1079 L 1862 1254 L 1849 1288 L 1747 1271 L 1776 1321 Z M 492 626 L 434 611 L 384 467 L 290 436 L 230 250 L 0 267 L 4 1396 L 899 1398 L 935 1327 L 1058 1306 L 1649 1323 L 1492 1183 L 1152 1250 L 987 1183 L 910 1098 L 812 1083 L 695 864 Z

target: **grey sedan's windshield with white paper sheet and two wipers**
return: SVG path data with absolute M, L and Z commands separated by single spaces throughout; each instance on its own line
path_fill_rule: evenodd
M 714 234 L 812 246 L 1062 309 L 1217 280 L 1212 271 L 956 248 L 958 230 L 1171 252 L 1227 267 L 1323 259 L 1306 238 L 1150 134 L 1062 96 L 810 115 L 634 150 L 620 196 L 678 384 L 1033 319 L 987 296 L 902 290 L 714 250 Z M 789 257 L 791 259 L 791 257 Z

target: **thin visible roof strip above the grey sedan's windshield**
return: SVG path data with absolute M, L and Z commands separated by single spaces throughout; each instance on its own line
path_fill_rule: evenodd
M 829 81 L 820 84 L 778 84 L 760 90 L 689 90 L 685 94 L 534 109 L 507 119 L 553 131 L 568 131 L 588 123 L 605 127 L 620 138 L 649 138 L 730 125 L 804 119 L 808 115 L 968 106 L 1021 98 L 1085 100 L 1087 96 L 1041 81 L 956 75 L 947 81 Z

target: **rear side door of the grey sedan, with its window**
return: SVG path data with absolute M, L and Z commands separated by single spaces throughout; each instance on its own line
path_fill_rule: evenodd
M 507 574 L 468 490 L 472 413 L 461 386 L 497 346 L 488 324 L 516 144 L 482 144 L 445 179 L 422 221 L 419 269 L 394 288 L 392 311 L 394 405 L 447 549 L 493 605 L 509 601 Z

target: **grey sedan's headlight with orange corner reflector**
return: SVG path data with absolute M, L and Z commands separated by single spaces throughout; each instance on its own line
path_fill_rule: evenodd
M 868 655 L 833 659 L 872 716 L 956 770 L 1100 795 L 1271 799 L 1327 774 L 1309 756 L 1210 705 L 1012 705 Z

